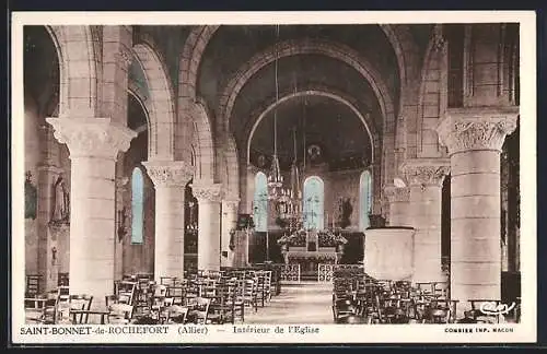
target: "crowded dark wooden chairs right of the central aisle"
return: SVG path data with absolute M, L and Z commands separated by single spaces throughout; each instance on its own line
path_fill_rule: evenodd
M 457 299 L 450 298 L 447 284 L 374 280 L 366 274 L 339 274 L 333 280 L 333 314 L 335 322 L 358 323 L 499 323 L 507 317 L 479 310 L 480 304 L 494 308 L 499 299 L 470 299 L 472 310 L 456 318 Z M 519 321 L 520 304 L 511 312 Z

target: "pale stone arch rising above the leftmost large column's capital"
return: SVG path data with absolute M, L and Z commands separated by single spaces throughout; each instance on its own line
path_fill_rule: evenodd
M 97 116 L 97 55 L 91 26 L 45 26 L 59 58 L 59 117 Z M 83 43 L 83 45 L 82 45 Z

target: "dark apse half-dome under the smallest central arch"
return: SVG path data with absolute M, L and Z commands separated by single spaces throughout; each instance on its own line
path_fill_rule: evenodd
M 274 154 L 274 115 L 275 109 L 259 122 L 253 134 L 251 161 L 257 166 L 260 155 L 267 160 Z M 294 158 L 294 129 L 299 162 L 304 155 L 304 131 L 306 151 L 311 145 L 322 151 L 322 158 L 315 163 L 328 162 L 331 168 L 352 168 L 366 166 L 370 162 L 371 144 L 364 125 L 349 107 L 333 98 L 305 96 L 279 104 L 277 127 L 278 156 L 283 169 Z

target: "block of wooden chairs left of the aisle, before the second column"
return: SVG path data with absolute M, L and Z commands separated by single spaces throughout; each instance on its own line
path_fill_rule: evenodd
M 132 306 L 129 320 L 136 322 L 188 321 L 234 323 L 244 321 L 245 309 L 257 311 L 270 302 L 271 271 L 197 272 L 185 279 L 125 276 L 115 283 L 106 303 Z M 187 309 L 186 311 L 184 309 Z M 176 316 L 175 316 L 176 315 Z

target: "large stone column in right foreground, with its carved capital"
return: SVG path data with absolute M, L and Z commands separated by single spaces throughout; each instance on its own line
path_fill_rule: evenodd
M 451 109 L 438 127 L 451 161 L 451 297 L 501 297 L 500 153 L 517 108 Z

